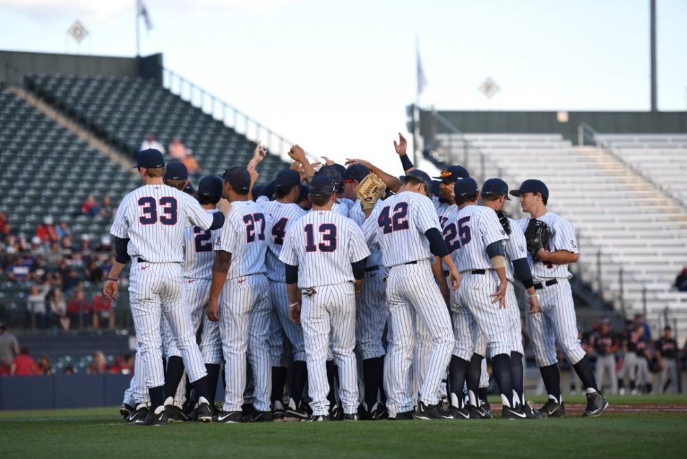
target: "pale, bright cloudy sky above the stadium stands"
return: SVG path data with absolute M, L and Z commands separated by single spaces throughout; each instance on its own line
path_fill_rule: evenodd
M 0 0 L 0 49 L 132 56 L 135 4 Z M 426 107 L 649 109 L 649 0 L 145 4 L 142 54 L 163 53 L 169 69 L 339 160 L 393 155 L 415 98 L 416 36 Z M 657 4 L 659 108 L 684 110 L 687 1 Z M 90 32 L 80 47 L 65 33 L 75 19 Z M 491 100 L 477 90 L 487 77 L 501 88 Z

